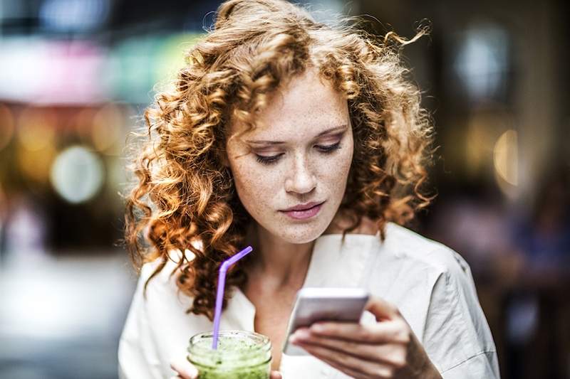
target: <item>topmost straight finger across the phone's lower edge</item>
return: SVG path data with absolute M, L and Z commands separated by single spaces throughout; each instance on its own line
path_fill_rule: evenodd
M 398 321 L 361 325 L 347 322 L 318 322 L 311 333 L 363 343 L 390 343 L 399 341 L 401 327 Z

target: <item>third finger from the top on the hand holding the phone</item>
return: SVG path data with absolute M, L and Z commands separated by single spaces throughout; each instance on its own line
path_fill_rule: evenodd
M 311 343 L 302 343 L 300 346 L 307 353 L 355 378 L 369 378 L 371 376 L 374 378 L 390 378 L 390 375 L 393 373 L 393 369 L 389 365 L 365 361 Z

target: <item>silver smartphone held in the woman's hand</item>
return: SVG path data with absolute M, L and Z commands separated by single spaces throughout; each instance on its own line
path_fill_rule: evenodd
M 311 326 L 317 321 L 356 322 L 361 320 L 369 294 L 362 288 L 306 287 L 297 292 L 295 305 L 283 346 L 289 356 L 309 355 L 300 346 L 289 343 L 289 336 L 296 329 Z

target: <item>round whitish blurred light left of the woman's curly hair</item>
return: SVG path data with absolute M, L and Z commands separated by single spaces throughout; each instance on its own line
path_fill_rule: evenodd
M 83 203 L 103 185 L 103 163 L 83 146 L 69 147 L 53 162 L 51 183 L 69 203 Z

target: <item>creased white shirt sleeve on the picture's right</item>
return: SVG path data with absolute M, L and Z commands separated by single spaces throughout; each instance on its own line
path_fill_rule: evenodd
M 422 338 L 425 351 L 444 379 L 499 379 L 497 351 L 470 267 L 451 252 L 449 267 L 432 287 Z

